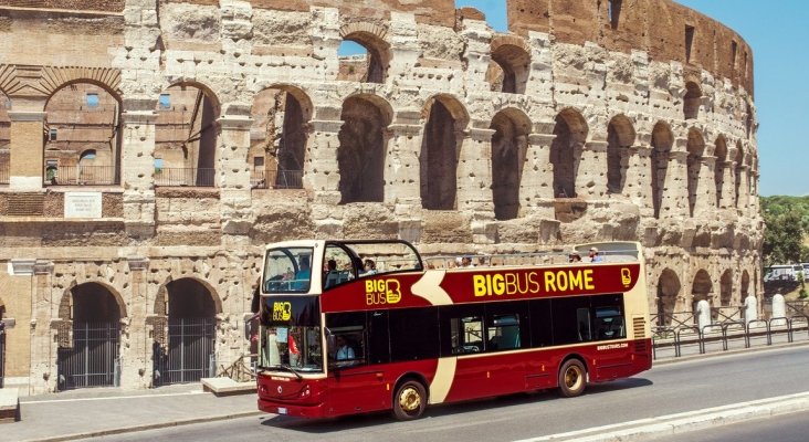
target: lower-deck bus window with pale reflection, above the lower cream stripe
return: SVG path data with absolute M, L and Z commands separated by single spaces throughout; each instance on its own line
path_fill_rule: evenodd
M 441 348 L 443 356 L 466 355 L 485 350 L 483 306 L 441 307 Z

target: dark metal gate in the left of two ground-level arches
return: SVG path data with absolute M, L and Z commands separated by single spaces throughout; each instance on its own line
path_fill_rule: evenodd
M 60 348 L 59 389 L 119 383 L 118 323 L 73 323 L 73 348 Z

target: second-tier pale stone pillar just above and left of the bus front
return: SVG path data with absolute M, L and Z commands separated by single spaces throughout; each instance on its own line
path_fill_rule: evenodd
M 227 250 L 250 245 L 248 234 L 252 227 L 250 190 L 250 127 L 253 120 L 245 116 L 219 118 L 219 155 L 217 173 L 222 210 L 222 244 Z

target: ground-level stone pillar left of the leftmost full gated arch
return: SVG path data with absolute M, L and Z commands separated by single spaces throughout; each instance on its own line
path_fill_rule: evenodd
M 52 320 L 59 317 L 59 294 L 52 284 L 53 263 L 36 260 L 31 293 L 31 394 L 56 391 L 57 368 L 55 330 Z

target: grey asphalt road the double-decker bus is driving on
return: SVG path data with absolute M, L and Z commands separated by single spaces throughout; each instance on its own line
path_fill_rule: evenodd
M 574 399 L 540 392 L 433 407 L 414 422 L 388 414 L 330 421 L 267 415 L 101 440 L 514 441 L 809 391 L 807 367 L 809 347 L 801 346 L 661 365 L 631 379 L 589 386 Z

